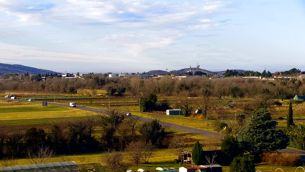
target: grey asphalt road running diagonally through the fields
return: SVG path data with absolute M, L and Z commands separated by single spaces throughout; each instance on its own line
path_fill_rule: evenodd
M 29 102 L 26 100 L 11 100 L 11 101 L 20 101 L 20 102 Z M 41 103 L 41 102 L 37 102 L 37 101 L 32 101 L 29 103 Z M 56 105 L 56 106 L 63 106 L 63 107 L 70 107 L 67 104 L 60 104 L 60 103 L 50 103 L 48 102 L 49 105 Z M 102 110 L 102 109 L 94 109 L 94 108 L 90 108 L 90 107 L 74 107 L 76 109 L 81 109 L 81 110 L 87 110 L 87 111 L 93 111 L 93 112 L 105 112 L 106 110 Z M 138 118 L 141 121 L 149 121 L 151 119 L 149 118 L 143 118 L 143 117 L 137 117 L 137 116 L 128 116 L 128 118 Z M 160 122 L 163 125 L 166 125 L 168 128 L 171 129 L 177 129 L 177 130 L 181 130 L 181 131 L 185 131 L 188 133 L 195 133 L 195 134 L 199 134 L 202 136 L 210 136 L 210 137 L 223 137 L 223 134 L 220 133 L 214 133 L 214 132 L 210 132 L 210 131 L 205 131 L 205 130 L 201 130 L 201 129 L 195 129 L 195 128 L 191 128 L 191 127 L 186 127 L 186 126 L 182 126 L 182 125 L 176 125 L 176 124 L 171 124 L 168 122 Z M 286 149 L 282 149 L 279 150 L 279 152 L 282 153 L 297 153 L 301 155 L 301 160 L 305 161 L 305 151 L 301 151 L 301 150 L 296 150 L 296 149 L 292 149 L 292 148 L 286 148 Z

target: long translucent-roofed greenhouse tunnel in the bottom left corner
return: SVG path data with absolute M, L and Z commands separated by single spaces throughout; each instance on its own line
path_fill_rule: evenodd
M 27 166 L 1 167 L 4 172 L 80 172 L 81 167 L 74 161 L 62 163 L 34 164 Z

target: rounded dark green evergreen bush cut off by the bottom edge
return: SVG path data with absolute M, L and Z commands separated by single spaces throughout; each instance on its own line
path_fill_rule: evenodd
M 255 166 L 251 159 L 235 157 L 230 164 L 230 172 L 255 172 Z

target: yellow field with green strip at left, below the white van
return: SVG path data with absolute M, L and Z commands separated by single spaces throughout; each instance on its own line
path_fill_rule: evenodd
M 39 119 L 84 116 L 84 110 L 36 103 L 6 103 L 0 101 L 0 120 Z

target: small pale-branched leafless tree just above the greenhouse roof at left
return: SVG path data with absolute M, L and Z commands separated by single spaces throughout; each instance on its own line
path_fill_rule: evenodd
M 37 152 L 27 153 L 27 160 L 31 164 L 50 163 L 50 159 L 55 155 L 55 151 L 48 146 L 39 146 Z

